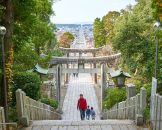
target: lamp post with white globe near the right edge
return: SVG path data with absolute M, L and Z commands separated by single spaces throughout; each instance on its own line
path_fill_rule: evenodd
M 157 31 L 160 27 L 160 22 L 156 22 L 154 27 L 157 28 Z M 157 78 L 157 69 L 158 69 L 158 46 L 159 46 L 159 37 L 158 34 L 156 35 L 156 53 L 155 53 L 155 78 Z

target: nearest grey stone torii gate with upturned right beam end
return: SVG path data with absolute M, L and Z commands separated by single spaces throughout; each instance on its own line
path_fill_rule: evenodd
M 80 57 L 80 58 L 74 58 L 74 57 L 53 57 L 50 64 L 53 66 L 52 68 L 49 69 L 49 72 L 52 74 L 56 74 L 56 91 L 57 91 L 57 100 L 61 104 L 61 75 L 62 73 L 99 73 L 101 72 L 101 100 L 104 98 L 104 92 L 105 92 L 105 87 L 106 87 L 106 70 L 105 70 L 105 63 L 108 63 L 112 60 L 115 60 L 119 58 L 121 54 L 114 54 L 110 56 L 103 56 L 103 57 L 91 57 L 91 58 L 86 58 L 86 57 Z M 63 64 L 76 64 L 76 63 L 100 63 L 101 64 L 101 69 L 97 68 L 66 68 L 64 69 L 62 67 Z M 61 110 L 61 106 L 59 106 L 59 109 Z M 102 104 L 101 104 L 101 109 L 102 109 Z

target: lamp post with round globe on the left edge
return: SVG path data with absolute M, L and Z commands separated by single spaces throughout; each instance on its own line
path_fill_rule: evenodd
M 5 110 L 5 119 L 8 121 L 8 105 L 7 105 L 7 83 L 6 83 L 6 68 L 5 68 L 5 53 L 4 53 L 4 35 L 6 34 L 6 28 L 0 26 L 0 37 L 1 37 L 1 45 L 2 45 L 2 70 L 3 70 L 3 86 L 1 89 L 1 94 L 3 97 L 3 107 Z M 2 100 L 2 99 L 1 99 Z

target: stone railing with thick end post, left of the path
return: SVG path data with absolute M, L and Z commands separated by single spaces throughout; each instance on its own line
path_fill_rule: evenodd
M 53 107 L 31 99 L 21 89 L 16 91 L 16 103 L 19 123 L 23 126 L 29 126 L 30 120 L 58 120 L 61 118 Z

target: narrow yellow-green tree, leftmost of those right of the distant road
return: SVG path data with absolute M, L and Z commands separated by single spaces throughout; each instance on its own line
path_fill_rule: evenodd
M 103 22 L 100 18 L 96 18 L 93 23 L 93 36 L 95 41 L 95 47 L 101 47 L 105 45 L 105 30 Z

